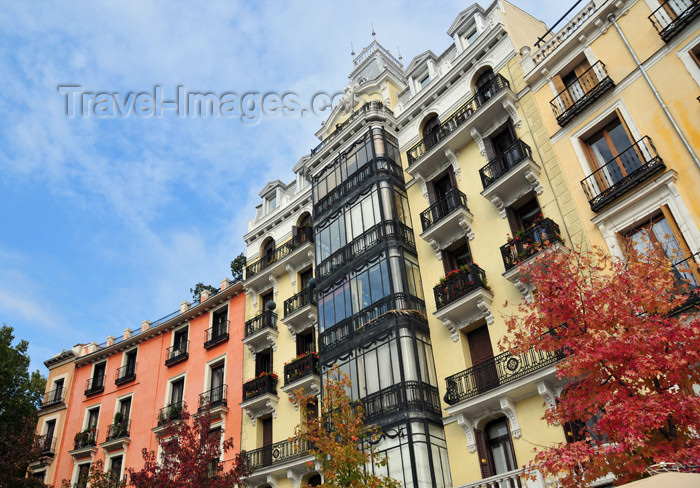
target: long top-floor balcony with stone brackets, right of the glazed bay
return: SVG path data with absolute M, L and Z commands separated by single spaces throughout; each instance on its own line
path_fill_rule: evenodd
M 434 132 L 406 151 L 406 172 L 413 177 L 430 179 L 430 175 L 445 162 L 446 155 L 450 154 L 453 157 L 455 151 L 473 139 L 472 131 L 478 133 L 487 129 L 505 114 L 517 119 L 516 101 L 517 97 L 510 89 L 508 80 L 496 75 L 445 119 Z

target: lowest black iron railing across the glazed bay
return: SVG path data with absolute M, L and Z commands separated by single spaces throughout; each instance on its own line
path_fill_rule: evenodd
M 396 412 L 426 410 L 440 415 L 438 389 L 419 381 L 406 381 L 391 385 L 367 395 L 361 401 L 366 422 Z

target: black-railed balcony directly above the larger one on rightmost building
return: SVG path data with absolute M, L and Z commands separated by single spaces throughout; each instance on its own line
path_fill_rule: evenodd
M 557 123 L 564 127 L 614 86 L 605 64 L 598 61 L 549 102 Z

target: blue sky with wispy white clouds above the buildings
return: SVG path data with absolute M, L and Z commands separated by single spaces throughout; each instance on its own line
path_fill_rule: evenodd
M 0 1 L 0 323 L 31 369 L 230 278 L 259 191 L 318 143 L 312 112 L 157 114 L 156 87 L 309 106 L 343 91 L 372 26 L 407 66 L 471 3 Z M 513 3 L 551 25 L 573 0 Z

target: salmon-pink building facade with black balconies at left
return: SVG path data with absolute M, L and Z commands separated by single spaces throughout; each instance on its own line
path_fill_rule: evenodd
M 102 460 L 115 478 L 159 451 L 158 435 L 183 409 L 208 412 L 212 430 L 240 439 L 244 294 L 223 280 L 216 293 L 140 330 L 79 344 L 46 361 L 47 391 L 37 426 L 42 457 L 30 466 L 50 486 L 87 484 Z M 230 454 L 230 453 L 229 453 Z M 227 455 L 226 459 L 231 456 Z M 226 460 L 224 468 L 227 468 Z

